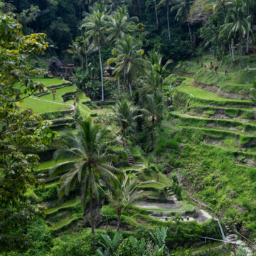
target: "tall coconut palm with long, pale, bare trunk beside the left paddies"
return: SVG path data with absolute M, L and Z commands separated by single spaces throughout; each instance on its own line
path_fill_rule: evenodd
M 105 36 L 107 22 L 106 16 L 99 10 L 93 11 L 92 14 L 88 14 L 82 24 L 82 28 L 85 28 L 85 36 L 87 40 L 92 39 L 92 44 L 99 50 L 100 58 L 100 78 L 102 83 L 102 101 L 104 100 L 104 83 L 103 83 L 103 71 L 102 71 L 102 57 L 101 57 L 101 46 L 107 41 Z

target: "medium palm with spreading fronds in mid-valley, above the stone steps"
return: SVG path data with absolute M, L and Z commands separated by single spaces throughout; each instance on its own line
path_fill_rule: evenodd
M 122 102 L 118 100 L 117 104 L 112 107 L 112 110 L 116 115 L 117 124 L 119 124 L 122 129 L 121 140 L 125 137 L 125 131 L 127 127 L 129 127 L 137 118 L 142 117 L 142 114 L 138 113 L 146 112 L 146 110 L 134 107 L 132 103 L 127 102 L 127 100 L 122 100 Z

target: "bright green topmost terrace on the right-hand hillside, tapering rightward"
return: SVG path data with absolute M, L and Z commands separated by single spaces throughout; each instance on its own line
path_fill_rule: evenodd
M 197 87 L 190 85 L 191 81 L 186 80 L 185 84 L 176 87 L 176 94 L 187 100 L 190 100 L 190 105 L 193 103 L 203 103 L 206 105 L 217 106 L 233 106 L 233 107 L 251 107 L 249 100 L 233 100 L 224 97 L 218 97 L 212 92 L 207 92 Z

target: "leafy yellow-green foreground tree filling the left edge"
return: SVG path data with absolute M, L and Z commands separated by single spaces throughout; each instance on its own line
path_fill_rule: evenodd
M 28 187 L 40 182 L 33 170 L 36 152 L 51 142 L 48 122 L 32 110 L 22 110 L 21 100 L 43 90 L 33 82 L 42 70 L 31 68 L 28 60 L 48 47 L 43 33 L 23 36 L 16 15 L 0 11 L 0 251 L 28 245 L 25 232 L 43 206 L 31 205 L 25 196 Z

